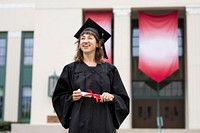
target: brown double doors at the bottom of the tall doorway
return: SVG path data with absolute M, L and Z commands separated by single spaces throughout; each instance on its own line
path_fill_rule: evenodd
M 158 102 L 159 100 L 159 102 Z M 133 99 L 133 128 L 184 128 L 184 99 Z

